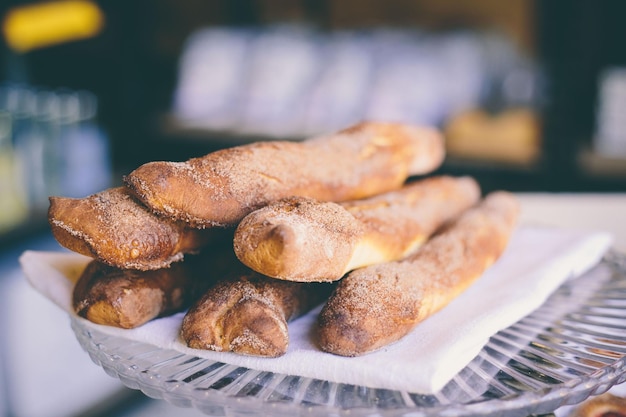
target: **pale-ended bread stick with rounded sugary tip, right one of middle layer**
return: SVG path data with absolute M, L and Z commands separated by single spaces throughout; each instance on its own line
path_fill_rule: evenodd
M 250 268 L 289 281 L 336 281 L 348 271 L 403 258 L 476 204 L 470 177 L 439 176 L 344 203 L 293 197 L 247 215 L 234 235 Z

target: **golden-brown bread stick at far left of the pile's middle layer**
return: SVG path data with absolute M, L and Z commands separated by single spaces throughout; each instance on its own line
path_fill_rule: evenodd
M 125 187 L 85 198 L 50 197 L 48 221 L 62 246 L 107 265 L 138 270 L 165 268 L 226 234 L 158 217 Z

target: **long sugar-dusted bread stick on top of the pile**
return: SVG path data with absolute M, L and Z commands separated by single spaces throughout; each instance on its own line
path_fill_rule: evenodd
M 125 182 L 156 213 L 192 227 L 230 226 L 284 197 L 345 201 L 389 191 L 443 158 L 435 130 L 370 122 L 302 142 L 256 142 L 185 162 L 149 162 Z

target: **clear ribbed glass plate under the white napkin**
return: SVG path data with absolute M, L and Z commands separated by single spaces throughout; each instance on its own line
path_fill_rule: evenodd
M 610 253 L 494 335 L 439 393 L 337 384 L 214 362 L 88 329 L 93 361 L 152 398 L 217 416 L 528 416 L 626 380 L 626 255 Z M 416 370 L 419 372 L 419 370 Z

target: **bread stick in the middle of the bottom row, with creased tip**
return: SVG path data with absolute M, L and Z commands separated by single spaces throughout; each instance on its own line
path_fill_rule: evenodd
M 278 357 L 289 346 L 287 323 L 322 303 L 331 288 L 248 269 L 210 288 L 185 314 L 181 336 L 196 349 Z

